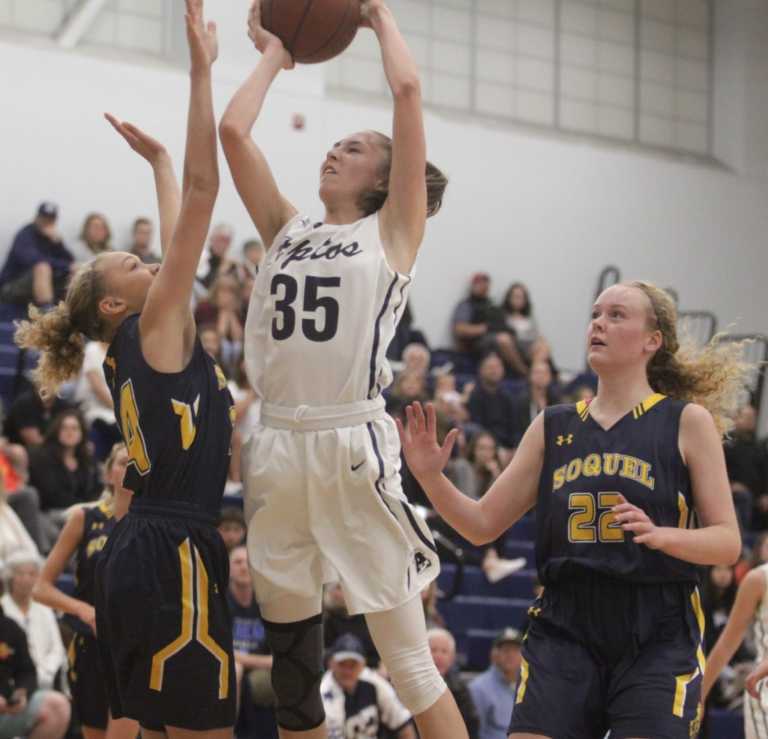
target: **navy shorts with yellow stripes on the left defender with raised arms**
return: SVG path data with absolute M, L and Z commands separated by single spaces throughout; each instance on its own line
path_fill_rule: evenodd
M 96 578 L 96 628 L 115 718 L 153 731 L 234 724 L 228 584 L 226 549 L 208 517 L 134 502 Z

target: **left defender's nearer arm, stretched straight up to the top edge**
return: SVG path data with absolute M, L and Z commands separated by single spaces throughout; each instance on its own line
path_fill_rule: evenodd
M 216 27 L 203 20 L 202 0 L 186 0 L 190 98 L 181 210 L 160 271 L 140 318 L 142 350 L 161 372 L 182 370 L 195 334 L 190 298 L 219 190 L 211 66 L 218 54 Z

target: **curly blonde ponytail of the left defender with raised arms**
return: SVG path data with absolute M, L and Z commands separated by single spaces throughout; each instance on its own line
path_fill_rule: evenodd
M 72 277 L 67 296 L 49 311 L 29 308 L 29 319 L 16 328 L 14 340 L 23 349 L 40 352 L 33 376 L 43 397 L 80 372 L 85 340 L 109 340 L 112 329 L 99 312 L 106 295 L 98 258 L 83 265 Z

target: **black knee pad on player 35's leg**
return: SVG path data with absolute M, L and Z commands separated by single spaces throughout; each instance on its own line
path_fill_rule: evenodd
M 272 689 L 277 723 L 289 731 L 309 731 L 325 721 L 320 698 L 323 677 L 322 616 L 278 624 L 264 621 L 272 650 Z

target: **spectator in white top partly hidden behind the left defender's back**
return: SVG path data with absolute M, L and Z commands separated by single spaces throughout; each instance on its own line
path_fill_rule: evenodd
M 90 429 L 88 438 L 93 443 L 94 456 L 100 462 L 122 438 L 102 367 L 108 348 L 102 341 L 89 341 L 85 345 L 83 367 L 75 385 L 75 400 Z

